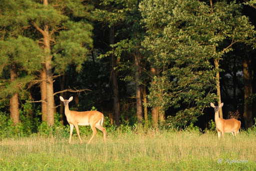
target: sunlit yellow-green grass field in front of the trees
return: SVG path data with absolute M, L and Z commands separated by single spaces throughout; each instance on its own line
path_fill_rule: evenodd
M 241 132 L 225 134 L 150 130 L 89 136 L 30 136 L 0 141 L 1 171 L 253 171 L 256 138 Z

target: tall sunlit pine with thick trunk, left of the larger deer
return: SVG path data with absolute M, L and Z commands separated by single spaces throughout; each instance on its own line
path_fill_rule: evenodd
M 40 86 L 41 98 L 43 99 L 41 101 L 42 108 L 45 107 L 45 102 L 47 104 L 46 121 L 51 126 L 54 123 L 55 106 L 52 64 L 55 73 L 63 72 L 69 64 L 73 64 L 76 71 L 81 69 L 88 49 L 92 47 L 92 39 L 90 38 L 92 26 L 86 21 L 87 11 L 90 10 L 90 7 L 85 7 L 81 1 L 76 0 L 61 2 L 53 0 L 50 3 L 48 0 L 43 0 L 43 4 L 33 0 L 25 2 L 27 7 L 23 13 L 20 13 L 19 17 L 22 18 L 24 26 L 33 26 L 37 30 L 33 38 L 38 40 L 44 49 L 44 69 L 41 70 Z M 42 109 L 42 112 L 44 113 L 45 109 Z M 45 114 L 43 116 L 45 117 Z

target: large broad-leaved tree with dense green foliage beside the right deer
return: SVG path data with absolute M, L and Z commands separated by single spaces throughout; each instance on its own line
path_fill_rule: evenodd
M 178 126 L 193 123 L 216 98 L 218 61 L 252 36 L 253 27 L 235 2 L 147 0 L 140 10 L 148 61 L 161 71 L 149 89 L 149 104 L 177 110 L 171 120 Z

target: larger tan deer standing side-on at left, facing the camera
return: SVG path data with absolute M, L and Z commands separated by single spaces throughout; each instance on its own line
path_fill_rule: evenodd
M 78 138 L 80 140 L 80 144 L 82 144 L 82 140 L 80 138 L 79 134 L 79 128 L 78 125 L 81 126 L 90 126 L 92 130 L 92 136 L 87 142 L 87 144 L 90 144 L 91 140 L 97 133 L 97 129 L 102 131 L 104 142 L 106 142 L 106 131 L 105 128 L 102 127 L 102 124 L 104 122 L 104 115 L 101 112 L 98 111 L 85 111 L 85 112 L 77 112 L 77 111 L 70 111 L 68 108 L 68 103 L 73 100 L 73 96 L 71 96 L 68 100 L 64 100 L 62 96 L 59 96 L 60 101 L 64 103 L 64 112 L 66 116 L 66 120 L 68 124 L 70 125 L 70 134 L 69 134 L 69 141 L 68 144 L 71 142 L 71 136 L 73 132 L 73 128 L 75 128 L 76 133 L 78 135 Z

